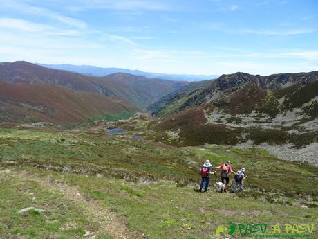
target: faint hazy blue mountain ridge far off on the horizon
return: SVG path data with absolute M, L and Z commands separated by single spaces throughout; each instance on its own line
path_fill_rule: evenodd
M 35 63 L 42 67 L 48 67 L 52 69 L 72 71 L 76 73 L 82 73 L 91 76 L 108 76 L 113 73 L 129 73 L 135 76 L 143 76 L 146 78 L 161 78 L 165 80 L 186 80 L 186 81 L 198 81 L 198 80 L 210 80 L 218 78 L 217 75 L 187 75 L 187 74 L 167 74 L 167 73 L 151 73 L 139 70 L 130 70 L 122 68 L 104 68 L 82 65 L 77 66 L 73 64 L 41 64 Z

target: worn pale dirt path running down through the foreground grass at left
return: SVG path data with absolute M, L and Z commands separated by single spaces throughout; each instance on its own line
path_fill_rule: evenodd
M 93 239 L 97 233 L 104 230 L 108 231 L 115 239 L 146 238 L 142 235 L 142 233 L 131 233 L 127 223 L 121 220 L 113 211 L 106 209 L 104 206 L 101 206 L 96 202 L 86 200 L 84 195 L 79 192 L 76 186 L 68 186 L 65 183 L 57 182 L 49 176 L 37 177 L 36 175 L 30 175 L 25 171 L 19 173 L 19 177 L 27 177 L 28 179 L 32 179 L 41 184 L 41 186 L 50 190 L 59 191 L 67 200 L 71 200 L 75 202 L 75 204 L 79 204 L 84 206 L 84 208 L 87 208 L 91 215 L 88 215 L 89 213 L 85 211 L 84 214 L 86 214 L 91 220 L 100 222 L 100 231 L 88 231 L 86 233 L 86 238 Z M 106 221 L 105 218 L 107 219 Z

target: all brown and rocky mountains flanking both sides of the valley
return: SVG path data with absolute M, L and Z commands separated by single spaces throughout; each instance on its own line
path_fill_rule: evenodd
M 4 62 L 0 86 L 1 122 L 64 124 L 148 111 L 157 117 L 151 121 L 151 139 L 185 146 L 257 145 L 280 158 L 317 161 L 318 71 L 238 72 L 186 82 L 128 73 L 97 77 Z

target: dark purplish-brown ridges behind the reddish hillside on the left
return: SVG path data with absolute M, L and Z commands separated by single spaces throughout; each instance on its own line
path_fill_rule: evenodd
M 156 100 L 187 85 L 186 81 L 144 78 L 126 73 L 110 76 L 87 76 L 71 71 L 41 67 L 30 62 L 3 62 L 0 64 L 0 80 L 30 84 L 58 85 L 75 91 L 86 91 L 104 96 L 119 96 L 145 109 Z

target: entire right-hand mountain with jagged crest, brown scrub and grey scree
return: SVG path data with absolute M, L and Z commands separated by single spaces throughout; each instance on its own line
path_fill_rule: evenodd
M 257 145 L 281 159 L 318 163 L 318 71 L 223 75 L 178 89 L 148 109 L 172 144 Z

